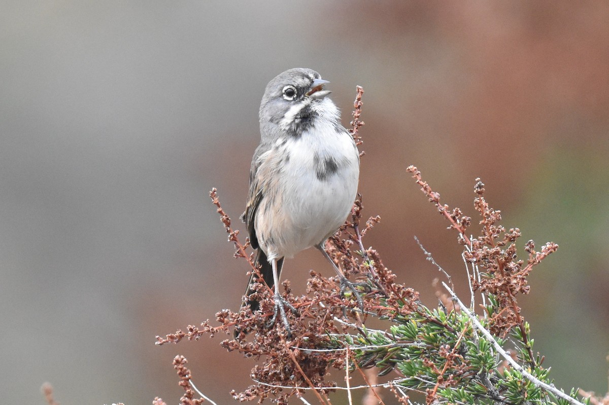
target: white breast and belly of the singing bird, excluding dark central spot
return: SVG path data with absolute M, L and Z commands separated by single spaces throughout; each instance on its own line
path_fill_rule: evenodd
M 277 148 L 276 155 L 289 156 L 275 183 L 281 198 L 264 218 L 257 218 L 269 230 L 267 240 L 259 235 L 269 258 L 294 256 L 336 232 L 351 211 L 359 179 L 359 154 L 351 135 L 337 131 L 329 120 L 318 120 L 311 131 Z M 318 163 L 329 157 L 336 171 L 320 179 Z

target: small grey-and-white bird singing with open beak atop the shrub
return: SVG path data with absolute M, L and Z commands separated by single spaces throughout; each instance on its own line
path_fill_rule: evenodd
M 300 251 L 317 248 L 339 276 L 341 294 L 348 288 L 361 304 L 354 288 L 359 284 L 345 278 L 324 248 L 351 212 L 359 182 L 359 151 L 328 98 L 328 83 L 314 70 L 293 68 L 267 84 L 259 109 L 260 144 L 241 216 L 262 278 L 274 289 L 269 325 L 280 314 L 289 335 L 286 307 L 297 311 L 281 296 L 279 281 L 284 259 Z M 246 297 L 255 282 L 252 273 Z M 255 299 L 245 299 L 246 305 L 259 309 Z

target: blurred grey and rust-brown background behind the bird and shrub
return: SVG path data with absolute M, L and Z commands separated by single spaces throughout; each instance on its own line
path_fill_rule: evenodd
M 65 405 L 177 403 L 176 354 L 217 403 L 247 387 L 253 362 L 225 337 L 155 335 L 238 309 L 247 266 L 208 192 L 244 229 L 259 101 L 295 66 L 331 81 L 345 126 L 364 87 L 359 190 L 382 218 L 365 245 L 434 306 L 417 235 L 467 298 L 456 234 L 405 168 L 474 222 L 481 177 L 523 257 L 530 238 L 560 245 L 521 300 L 535 349 L 558 387 L 606 392 L 609 3 L 0 7 L 2 403 L 43 403 L 44 381 Z M 301 253 L 284 273 L 295 292 L 310 268 L 332 274 Z

